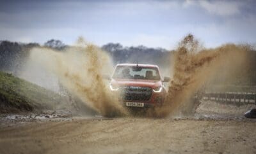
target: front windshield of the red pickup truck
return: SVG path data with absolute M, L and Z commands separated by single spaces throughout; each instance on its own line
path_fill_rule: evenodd
M 156 67 L 117 66 L 113 74 L 115 79 L 160 80 Z

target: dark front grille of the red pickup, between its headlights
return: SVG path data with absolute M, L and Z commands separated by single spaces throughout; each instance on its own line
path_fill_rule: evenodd
M 122 87 L 122 97 L 125 101 L 148 101 L 152 95 L 150 87 Z

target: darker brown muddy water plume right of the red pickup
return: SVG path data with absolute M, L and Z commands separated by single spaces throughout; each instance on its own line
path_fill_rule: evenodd
M 189 34 L 175 52 L 172 82 L 168 97 L 161 108 L 156 109 L 156 116 L 168 116 L 179 113 L 191 113 L 193 96 L 214 79 L 216 74 L 239 71 L 246 61 L 246 46 L 223 45 L 215 49 L 204 49 Z M 232 73 L 230 73 L 232 74 Z M 230 78 L 232 76 L 225 76 Z

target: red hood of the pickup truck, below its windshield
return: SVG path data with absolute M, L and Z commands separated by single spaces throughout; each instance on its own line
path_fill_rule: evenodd
M 112 79 L 110 82 L 113 86 L 123 87 L 123 86 L 134 86 L 134 87 L 151 87 L 156 88 L 162 85 L 161 81 L 156 80 L 115 80 Z

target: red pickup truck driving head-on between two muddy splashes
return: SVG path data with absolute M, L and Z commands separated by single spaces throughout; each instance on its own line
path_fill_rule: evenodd
M 148 64 L 117 64 L 109 88 L 120 94 L 120 102 L 129 108 L 161 106 L 166 96 L 159 67 Z

